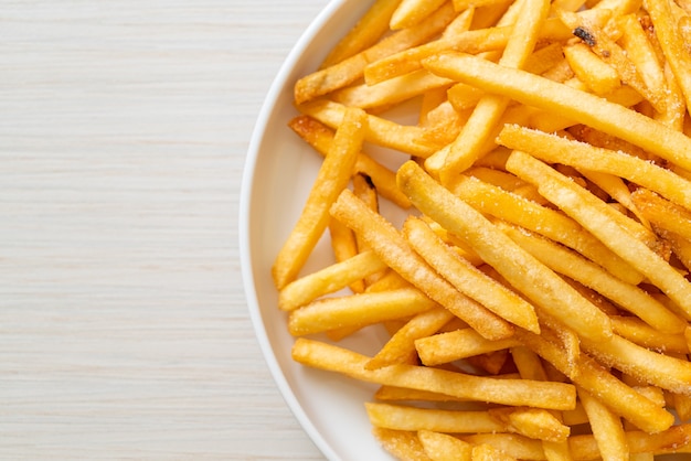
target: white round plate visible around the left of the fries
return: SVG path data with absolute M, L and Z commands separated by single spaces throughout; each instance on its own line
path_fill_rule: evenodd
M 252 320 L 272 374 L 305 431 L 329 460 L 392 460 L 371 436 L 363 403 L 373 387 L 293 362 L 286 317 L 276 305 L 270 267 L 293 228 L 321 163 L 287 127 L 297 115 L 293 85 L 313 72 L 327 52 L 357 22 L 371 1 L 331 1 L 304 33 L 277 75 L 256 124 L 243 178 L 240 248 Z M 322 243 L 323 244 L 323 243 Z M 328 254 L 317 248 L 316 267 Z M 346 343 L 373 352 L 372 332 Z M 368 351 L 368 347 L 371 351 Z

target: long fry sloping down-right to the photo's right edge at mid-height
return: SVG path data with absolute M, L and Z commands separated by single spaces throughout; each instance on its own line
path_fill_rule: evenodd
M 636 267 L 691 315 L 691 285 L 652 249 L 609 217 L 607 205 L 529 154 L 514 151 L 507 168 L 535 184 L 540 193 Z

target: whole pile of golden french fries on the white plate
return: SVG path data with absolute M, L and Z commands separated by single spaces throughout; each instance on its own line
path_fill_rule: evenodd
M 294 89 L 323 161 L 278 308 L 385 450 L 691 452 L 689 0 L 375 0 Z

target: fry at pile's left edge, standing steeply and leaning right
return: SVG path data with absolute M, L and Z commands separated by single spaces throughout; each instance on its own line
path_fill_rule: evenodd
M 296 279 L 326 230 L 330 219 L 329 207 L 348 185 L 358 152 L 362 149 L 364 140 L 362 127 L 366 122 L 366 114 L 363 110 L 357 108 L 344 110 L 305 208 L 272 267 L 274 283 L 279 290 Z

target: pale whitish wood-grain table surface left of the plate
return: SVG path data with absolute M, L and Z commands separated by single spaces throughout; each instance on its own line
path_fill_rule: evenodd
M 321 460 L 267 371 L 245 152 L 327 0 L 0 2 L 0 460 Z

